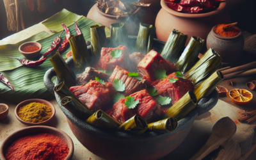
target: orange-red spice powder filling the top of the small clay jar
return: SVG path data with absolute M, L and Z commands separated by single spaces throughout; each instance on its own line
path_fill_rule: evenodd
M 234 26 L 231 26 L 230 28 L 227 28 L 224 30 L 223 27 L 225 26 L 227 26 L 227 24 L 218 24 L 215 28 L 213 28 L 213 30 L 217 35 L 226 36 L 226 37 L 237 36 L 240 32 L 240 29 Z

